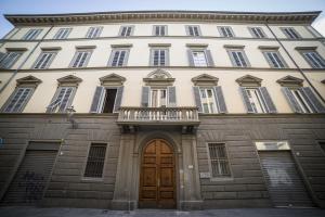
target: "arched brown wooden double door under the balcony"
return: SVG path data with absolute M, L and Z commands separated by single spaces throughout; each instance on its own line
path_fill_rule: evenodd
M 174 153 L 162 139 L 143 149 L 140 174 L 140 208 L 176 208 Z

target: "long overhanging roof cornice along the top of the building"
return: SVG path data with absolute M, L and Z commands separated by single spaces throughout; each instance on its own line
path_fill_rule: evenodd
M 222 11 L 116 11 L 67 14 L 5 14 L 14 26 L 119 23 L 119 22 L 229 22 L 311 24 L 321 11 L 311 12 L 222 12 Z

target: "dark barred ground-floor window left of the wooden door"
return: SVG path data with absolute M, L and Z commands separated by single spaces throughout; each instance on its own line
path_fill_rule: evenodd
M 106 144 L 102 143 L 92 143 L 90 145 L 83 177 L 102 178 L 106 146 Z

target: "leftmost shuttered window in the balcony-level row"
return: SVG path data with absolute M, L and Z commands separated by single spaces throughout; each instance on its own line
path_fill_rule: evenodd
M 27 88 L 27 87 L 16 88 L 13 94 L 9 98 L 8 102 L 4 104 L 2 112 L 4 113 L 23 112 L 32 92 L 34 92 L 34 88 Z

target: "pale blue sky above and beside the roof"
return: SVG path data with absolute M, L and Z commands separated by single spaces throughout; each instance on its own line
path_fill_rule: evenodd
M 0 0 L 0 38 L 13 26 L 3 14 L 81 13 L 141 10 L 240 12 L 325 11 L 325 0 Z M 313 26 L 325 36 L 325 12 Z

